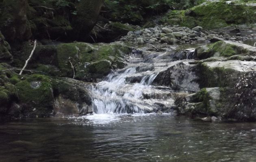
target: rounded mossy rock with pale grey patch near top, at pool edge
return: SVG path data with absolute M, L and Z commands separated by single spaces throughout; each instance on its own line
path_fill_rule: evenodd
M 23 104 L 24 115 L 49 117 L 54 115 L 54 96 L 51 79 L 45 75 L 30 75 L 15 84 Z

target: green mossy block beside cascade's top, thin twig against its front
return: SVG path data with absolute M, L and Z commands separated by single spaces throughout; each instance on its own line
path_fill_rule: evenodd
M 129 52 L 131 52 L 131 48 L 122 43 L 101 43 L 94 45 L 81 42 L 63 43 L 57 46 L 58 67 L 61 70 L 62 76 L 72 77 L 73 65 L 76 72 L 76 79 L 91 81 L 94 77 L 104 77 L 110 72 L 111 68 L 117 68 L 117 64 L 120 65 L 121 58 Z M 102 60 L 105 60 L 103 63 L 106 60 L 108 62 L 104 64 L 107 65 L 104 66 L 106 68 L 104 70 L 102 70 L 102 66 L 98 66 L 100 64 L 96 66 L 95 63 L 101 62 Z

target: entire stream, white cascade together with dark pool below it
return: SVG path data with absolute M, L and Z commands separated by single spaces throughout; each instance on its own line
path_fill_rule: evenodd
M 255 162 L 256 123 L 202 122 L 172 111 L 175 94 L 200 90 L 193 51 L 134 51 L 125 68 L 91 87 L 92 115 L 0 124 L 0 161 Z

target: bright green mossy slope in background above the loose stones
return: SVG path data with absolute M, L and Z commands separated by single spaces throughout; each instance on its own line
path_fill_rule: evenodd
M 246 24 L 252 29 L 256 23 L 255 4 L 253 0 L 206 1 L 188 10 L 170 11 L 161 19 L 161 22 L 189 28 L 202 26 L 206 29 Z

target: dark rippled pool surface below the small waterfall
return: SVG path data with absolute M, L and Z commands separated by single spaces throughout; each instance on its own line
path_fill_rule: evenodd
M 256 123 L 173 115 L 27 119 L 0 125 L 0 162 L 256 162 Z

